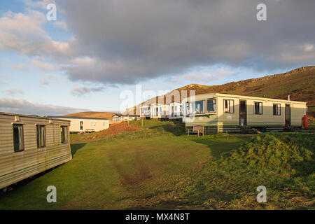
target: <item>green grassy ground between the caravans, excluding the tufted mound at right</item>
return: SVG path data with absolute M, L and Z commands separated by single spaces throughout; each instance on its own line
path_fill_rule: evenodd
M 257 170 L 251 173 L 241 167 L 245 160 L 231 160 L 237 158 L 239 146 L 245 147 L 251 139 L 222 134 L 188 137 L 181 123 L 154 120 L 145 121 L 144 128 L 136 132 L 78 139 L 71 143 L 70 162 L 0 195 L 0 209 L 311 208 L 314 189 L 309 185 L 314 183 L 314 167 L 308 168 L 308 176 L 297 176 L 299 183 L 283 179 L 283 175 L 293 175 L 284 171 L 273 176 L 272 181 L 279 183 L 264 182 Z M 274 198 L 269 203 L 255 202 L 258 185 L 272 189 L 269 197 Z M 46 202 L 48 186 L 57 188 L 57 203 Z

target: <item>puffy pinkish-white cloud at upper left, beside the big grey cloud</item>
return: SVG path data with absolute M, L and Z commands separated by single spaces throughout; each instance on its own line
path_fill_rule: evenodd
M 69 43 L 53 41 L 43 25 L 45 15 L 37 10 L 27 13 L 5 13 L 0 18 L 0 49 L 28 55 L 69 56 Z

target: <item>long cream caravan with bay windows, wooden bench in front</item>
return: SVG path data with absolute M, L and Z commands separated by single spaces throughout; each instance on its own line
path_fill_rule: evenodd
M 302 127 L 302 117 L 307 113 L 306 102 L 232 94 L 198 94 L 195 99 L 186 98 L 183 102 L 186 129 L 204 125 L 206 134 L 240 132 L 242 127 L 258 130 Z

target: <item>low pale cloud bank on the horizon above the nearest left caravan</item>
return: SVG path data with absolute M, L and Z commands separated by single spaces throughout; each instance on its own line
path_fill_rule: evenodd
M 20 113 L 38 116 L 60 116 L 69 113 L 90 111 L 88 109 L 77 109 L 66 106 L 55 106 L 49 104 L 33 104 L 25 99 L 3 99 L 0 98 L 0 111 L 6 113 Z

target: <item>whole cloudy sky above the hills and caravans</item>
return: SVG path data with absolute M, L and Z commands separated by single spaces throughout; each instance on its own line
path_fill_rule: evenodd
M 314 36 L 312 0 L 1 0 L 0 111 L 118 111 L 136 85 L 158 94 L 281 73 L 314 65 Z

